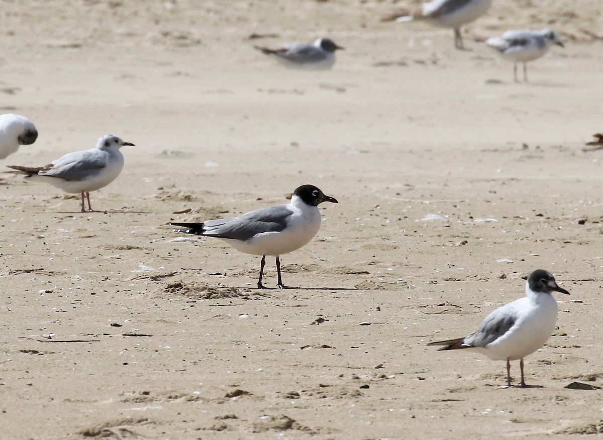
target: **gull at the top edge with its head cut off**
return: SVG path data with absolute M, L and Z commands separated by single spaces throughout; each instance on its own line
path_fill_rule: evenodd
M 382 21 L 396 20 L 397 22 L 409 22 L 425 20 L 426 22 L 454 30 L 454 45 L 457 49 L 463 49 L 463 36 L 461 26 L 481 17 L 490 9 L 492 0 L 433 0 L 424 3 L 423 7 L 409 12 L 390 14 Z

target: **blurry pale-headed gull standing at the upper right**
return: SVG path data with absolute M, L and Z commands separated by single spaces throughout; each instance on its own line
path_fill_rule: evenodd
M 516 83 L 519 82 L 517 81 L 517 63 L 523 63 L 523 80 L 527 83 L 526 63 L 528 61 L 546 54 L 551 45 L 564 47 L 555 31 L 550 29 L 507 31 L 499 37 L 490 37 L 482 43 L 495 49 L 505 60 L 513 61 L 513 75 Z

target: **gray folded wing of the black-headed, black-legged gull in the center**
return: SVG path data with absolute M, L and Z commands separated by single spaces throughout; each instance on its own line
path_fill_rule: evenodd
M 203 223 L 203 235 L 245 241 L 256 234 L 280 232 L 293 212 L 286 205 L 260 208 L 236 218 Z

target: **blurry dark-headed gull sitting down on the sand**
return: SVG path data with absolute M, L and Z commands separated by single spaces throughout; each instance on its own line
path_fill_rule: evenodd
M 267 55 L 276 55 L 283 64 L 293 68 L 330 69 L 335 63 L 335 51 L 341 46 L 328 38 L 319 38 L 314 44 L 294 43 L 281 49 L 253 46 Z

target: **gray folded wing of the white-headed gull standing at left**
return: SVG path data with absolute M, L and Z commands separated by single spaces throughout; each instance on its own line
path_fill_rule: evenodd
M 106 157 L 99 149 L 75 151 L 52 162 L 52 168 L 40 175 L 58 177 L 64 180 L 83 180 L 107 166 Z

